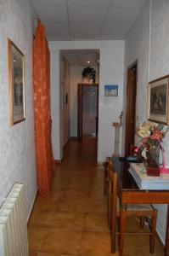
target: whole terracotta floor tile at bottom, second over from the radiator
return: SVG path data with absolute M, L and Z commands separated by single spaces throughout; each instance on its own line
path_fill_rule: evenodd
M 50 230 L 42 243 L 43 253 L 77 254 L 82 241 L 81 231 Z

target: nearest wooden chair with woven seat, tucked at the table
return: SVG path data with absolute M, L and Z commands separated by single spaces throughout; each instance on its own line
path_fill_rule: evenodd
M 149 224 L 149 232 L 141 232 L 141 235 L 149 235 L 149 251 L 154 253 L 155 247 L 155 227 L 157 211 L 152 205 L 149 204 L 122 204 L 121 197 L 119 197 L 117 173 L 112 168 L 112 163 L 108 164 L 108 181 L 109 181 L 109 194 L 108 194 L 108 224 L 111 232 L 111 252 L 115 253 L 115 235 L 119 235 L 119 255 L 122 256 L 123 244 L 125 234 L 140 234 L 140 232 L 126 232 L 127 217 L 141 218 L 140 226 L 144 228 L 144 218 L 151 218 Z M 125 189 L 124 193 L 131 191 Z M 135 192 L 134 192 L 135 191 Z M 139 190 L 133 190 L 133 193 L 139 193 Z M 134 196 L 132 194 L 131 196 Z M 120 217 L 120 232 L 116 231 L 117 217 Z

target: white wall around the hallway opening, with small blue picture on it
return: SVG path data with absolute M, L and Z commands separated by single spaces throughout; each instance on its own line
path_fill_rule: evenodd
M 50 42 L 51 52 L 51 97 L 53 118 L 54 159 L 60 160 L 59 127 L 59 50 L 60 49 L 99 49 L 99 143 L 98 161 L 104 161 L 114 149 L 112 122 L 118 120 L 123 101 L 124 41 L 65 41 Z M 104 97 L 104 84 L 119 84 L 118 97 Z M 106 134 L 106 137 L 105 137 Z

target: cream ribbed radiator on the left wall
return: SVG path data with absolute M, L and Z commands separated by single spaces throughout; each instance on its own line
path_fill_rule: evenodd
M 15 183 L 0 208 L 0 256 L 28 256 L 24 185 Z

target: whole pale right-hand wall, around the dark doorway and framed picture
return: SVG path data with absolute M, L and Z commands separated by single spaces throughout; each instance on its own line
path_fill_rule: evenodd
M 169 73 L 169 1 L 153 0 L 135 20 L 125 42 L 125 71 L 138 59 L 137 109 L 138 123 L 147 120 L 147 84 Z M 126 90 L 126 87 L 125 89 Z M 124 101 L 126 102 L 126 101 Z M 164 139 L 166 164 L 169 165 L 169 135 Z M 166 206 L 158 209 L 157 230 L 162 241 L 166 233 Z

